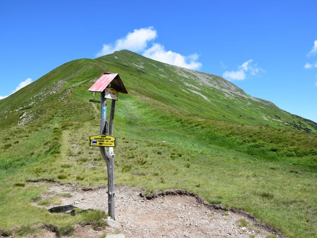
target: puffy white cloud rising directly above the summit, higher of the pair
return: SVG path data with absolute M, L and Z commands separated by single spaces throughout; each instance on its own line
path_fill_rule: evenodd
M 156 30 L 152 26 L 134 29 L 132 33 L 129 32 L 125 37 L 116 40 L 114 44 L 103 44 L 102 49 L 96 54 L 96 57 L 108 55 L 117 50 L 140 52 L 146 49 L 147 43 L 156 37 Z

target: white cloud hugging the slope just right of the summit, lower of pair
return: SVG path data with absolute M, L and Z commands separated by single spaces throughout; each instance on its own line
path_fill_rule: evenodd
M 151 48 L 145 50 L 143 56 L 187 69 L 200 69 L 202 66 L 201 63 L 196 61 L 198 59 L 196 53 L 189 56 L 182 56 L 171 50 L 166 51 L 164 46 L 159 43 L 154 43 Z

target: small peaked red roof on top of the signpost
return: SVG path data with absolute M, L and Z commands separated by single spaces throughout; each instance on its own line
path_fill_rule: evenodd
M 105 72 L 93 86 L 88 89 L 91 92 L 102 92 L 111 83 L 111 87 L 120 93 L 128 93 L 118 74 Z

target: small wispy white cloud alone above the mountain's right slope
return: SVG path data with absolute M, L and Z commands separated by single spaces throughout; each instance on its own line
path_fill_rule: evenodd
M 250 73 L 252 76 L 256 76 L 261 72 L 265 73 L 265 70 L 261 67 L 258 67 L 257 63 L 254 64 L 252 62 L 253 60 L 250 59 L 240 65 L 237 71 L 226 71 L 222 74 L 222 76 L 228 81 L 232 81 L 245 79 L 247 76 L 246 73 Z

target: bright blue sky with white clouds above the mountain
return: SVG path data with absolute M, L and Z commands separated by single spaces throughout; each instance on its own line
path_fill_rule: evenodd
M 317 122 L 316 1 L 1 1 L 0 98 L 122 47 Z

